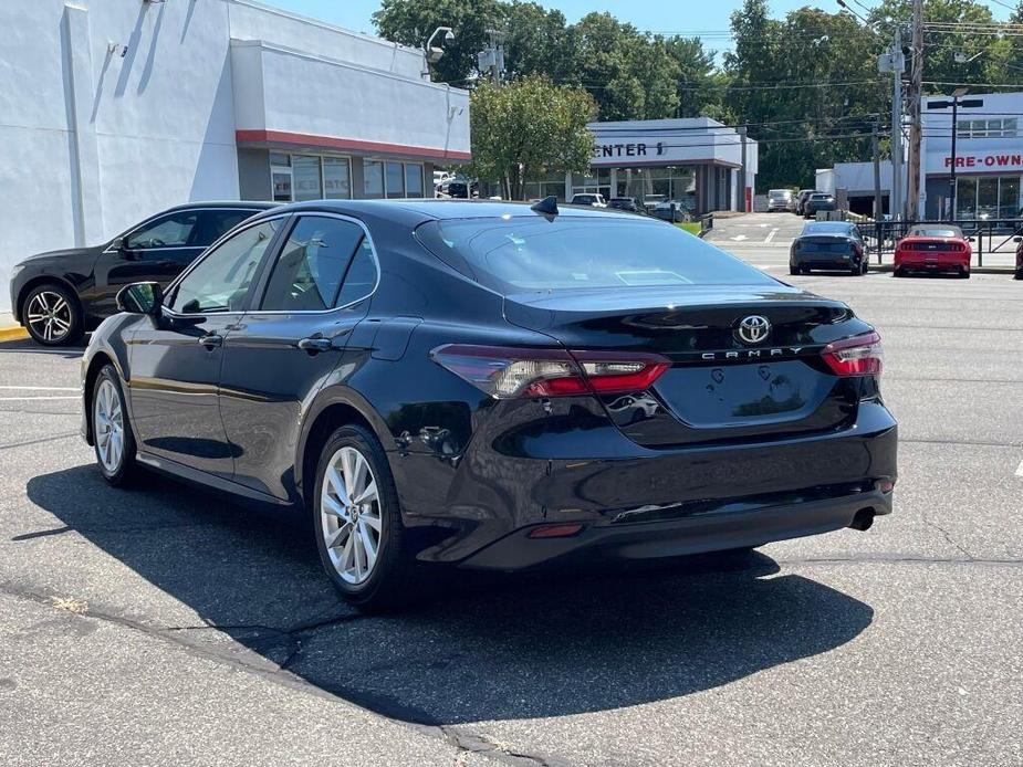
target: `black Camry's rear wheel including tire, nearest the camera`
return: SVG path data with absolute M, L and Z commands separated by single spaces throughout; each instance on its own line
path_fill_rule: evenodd
M 358 425 L 337 429 L 316 467 L 313 527 L 327 577 L 365 610 L 398 607 L 413 586 L 405 528 L 384 449 Z

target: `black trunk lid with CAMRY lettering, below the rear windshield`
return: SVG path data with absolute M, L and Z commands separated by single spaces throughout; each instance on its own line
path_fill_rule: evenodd
M 835 376 L 821 351 L 870 329 L 844 304 L 781 283 L 510 295 L 505 316 L 570 350 L 666 357 L 670 367 L 649 391 L 601 397 L 618 427 L 648 446 L 779 439 L 852 423 L 860 381 Z M 742 329 L 750 318 L 768 326 L 762 338 Z

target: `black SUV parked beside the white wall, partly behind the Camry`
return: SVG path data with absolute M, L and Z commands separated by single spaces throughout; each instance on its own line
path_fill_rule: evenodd
M 40 344 L 73 344 L 117 311 L 139 281 L 169 284 L 221 234 L 272 202 L 196 202 L 157 213 L 108 242 L 33 255 L 11 271 L 11 306 Z

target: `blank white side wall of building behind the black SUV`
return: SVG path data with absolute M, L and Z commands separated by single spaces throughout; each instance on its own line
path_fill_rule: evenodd
M 0 29 L 0 311 L 28 255 L 238 197 L 225 2 L 8 0 Z

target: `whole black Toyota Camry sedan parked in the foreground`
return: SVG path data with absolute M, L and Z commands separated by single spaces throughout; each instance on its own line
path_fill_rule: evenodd
M 295 203 L 118 301 L 82 368 L 103 475 L 311 515 L 356 605 L 429 564 L 607 568 L 891 511 L 874 328 L 661 221 Z

